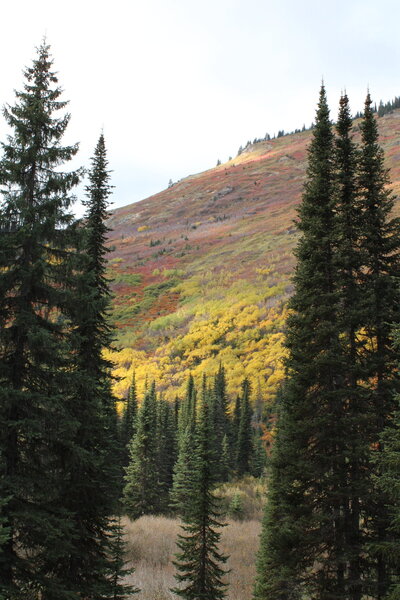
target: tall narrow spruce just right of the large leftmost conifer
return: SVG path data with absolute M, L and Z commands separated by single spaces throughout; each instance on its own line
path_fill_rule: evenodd
M 107 166 L 101 135 L 89 170 L 80 272 L 71 302 L 76 379 L 73 414 L 78 423 L 75 443 L 80 451 L 65 458 L 63 498 L 74 515 L 74 529 L 70 550 L 58 565 L 65 580 L 74 582 L 76 594 L 93 600 L 112 598 L 114 593 L 107 556 L 120 478 L 112 365 L 102 355 L 103 348 L 111 344 L 105 245 L 111 193 Z

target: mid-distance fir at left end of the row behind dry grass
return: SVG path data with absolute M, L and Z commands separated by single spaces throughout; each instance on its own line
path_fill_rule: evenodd
M 156 404 L 154 385 L 146 392 L 136 421 L 136 434 L 130 446 L 126 468 L 123 504 L 131 519 L 158 510 Z

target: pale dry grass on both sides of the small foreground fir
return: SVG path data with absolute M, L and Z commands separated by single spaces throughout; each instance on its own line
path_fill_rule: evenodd
M 135 600 L 176 600 L 170 592 L 175 586 L 172 560 L 179 521 L 166 517 L 146 516 L 137 521 L 124 521 L 128 565 L 135 569 L 129 583 L 142 591 Z M 222 530 L 221 551 L 229 555 L 231 572 L 227 600 L 250 600 L 258 549 L 259 521 L 233 521 Z

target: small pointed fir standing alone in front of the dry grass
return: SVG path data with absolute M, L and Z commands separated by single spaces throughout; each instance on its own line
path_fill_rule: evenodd
M 221 567 L 226 556 L 218 551 L 222 524 L 219 522 L 217 500 L 213 495 L 215 462 L 211 439 L 208 402 L 203 400 L 194 447 L 194 471 L 191 481 L 188 510 L 182 526 L 184 534 L 178 536 L 174 563 L 175 575 L 184 586 L 172 590 L 186 600 L 219 600 L 225 597 L 226 584 L 222 578 L 226 571 Z

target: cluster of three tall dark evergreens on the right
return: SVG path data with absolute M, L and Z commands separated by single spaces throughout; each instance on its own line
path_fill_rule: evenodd
M 290 302 L 278 434 L 255 598 L 383 598 L 390 503 L 371 455 L 399 383 L 390 323 L 398 323 L 400 227 L 368 95 L 361 147 L 347 97 L 333 138 L 322 88 Z

